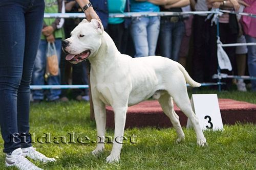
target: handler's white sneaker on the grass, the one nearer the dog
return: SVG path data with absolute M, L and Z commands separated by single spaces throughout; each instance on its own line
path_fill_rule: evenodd
M 39 160 L 41 162 L 53 162 L 56 161 L 54 158 L 48 158 L 44 154 L 41 154 L 40 152 L 37 152 L 35 148 L 29 147 L 29 148 L 23 148 L 22 149 L 23 156 L 27 156 L 33 160 Z

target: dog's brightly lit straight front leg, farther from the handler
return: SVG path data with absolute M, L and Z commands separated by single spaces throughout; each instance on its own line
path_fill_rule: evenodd
M 115 113 L 115 135 L 111 154 L 106 158 L 106 161 L 109 163 L 117 162 L 120 159 L 127 108 L 127 106 L 113 107 Z

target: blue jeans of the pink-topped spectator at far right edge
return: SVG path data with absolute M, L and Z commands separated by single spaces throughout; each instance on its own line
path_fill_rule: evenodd
M 246 42 L 256 42 L 256 38 L 253 38 L 249 35 L 245 35 Z M 248 45 L 248 71 L 250 76 L 256 77 L 256 46 Z M 256 80 L 251 80 L 251 89 L 256 91 Z

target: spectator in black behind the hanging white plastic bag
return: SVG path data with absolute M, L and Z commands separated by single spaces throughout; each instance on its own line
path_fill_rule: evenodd
M 236 0 L 232 0 L 236 1 Z M 234 5 L 231 1 L 219 2 L 219 0 L 208 0 L 208 7 L 209 8 L 221 8 L 225 10 L 233 10 Z M 237 8 L 237 7 L 236 7 Z M 237 37 L 239 33 L 239 26 L 237 16 L 235 14 L 228 14 L 224 13 L 222 16 L 219 17 L 219 30 L 220 30 L 220 40 L 223 44 L 226 43 L 236 43 Z M 218 69 L 218 58 L 217 58 L 217 26 L 214 24 L 210 27 L 210 76 L 217 74 Z M 223 47 L 224 51 L 229 57 L 233 70 L 228 71 L 227 69 L 221 70 L 222 73 L 233 75 L 234 69 L 236 69 L 236 47 Z M 223 79 L 223 82 L 226 85 L 223 86 L 224 90 L 229 90 L 232 85 L 231 79 Z

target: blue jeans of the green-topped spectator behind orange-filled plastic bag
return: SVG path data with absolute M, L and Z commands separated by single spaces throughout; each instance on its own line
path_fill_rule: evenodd
M 58 63 L 60 63 L 61 55 L 61 39 L 55 39 L 55 46 L 57 51 Z M 45 84 L 45 70 L 46 70 L 46 53 L 47 53 L 48 42 L 46 40 L 40 40 L 39 48 L 35 58 L 35 66 L 33 70 L 32 84 L 33 85 L 44 85 Z M 60 74 L 57 76 L 50 76 L 47 79 L 48 85 L 60 85 Z M 60 89 L 50 89 L 47 94 L 49 101 L 54 101 L 59 99 L 61 94 Z M 43 100 L 44 99 L 44 90 L 34 90 L 33 91 L 34 100 Z

